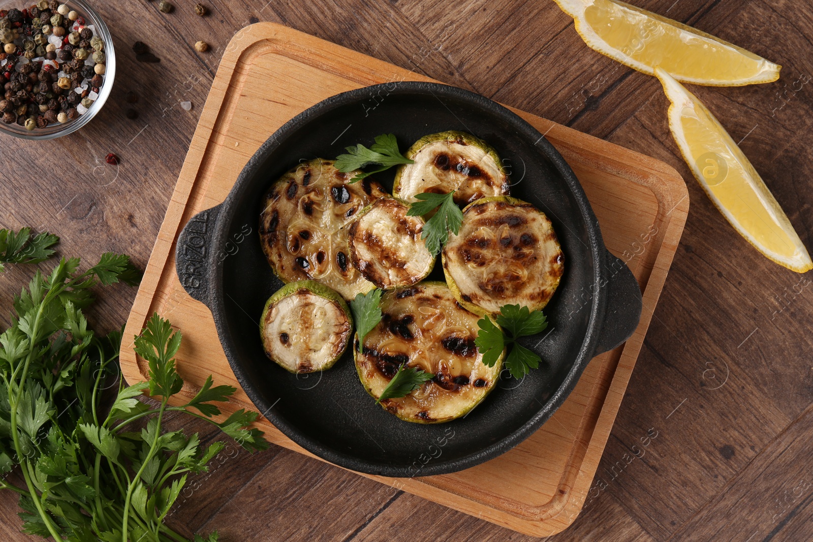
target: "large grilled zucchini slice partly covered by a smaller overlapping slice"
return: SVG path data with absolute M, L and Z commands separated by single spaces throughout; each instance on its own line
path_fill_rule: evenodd
M 265 196 L 260 242 L 285 282 L 317 280 L 347 300 L 375 286 L 350 263 L 347 223 L 386 193 L 375 181 L 347 184 L 333 160 L 315 158 L 281 176 Z

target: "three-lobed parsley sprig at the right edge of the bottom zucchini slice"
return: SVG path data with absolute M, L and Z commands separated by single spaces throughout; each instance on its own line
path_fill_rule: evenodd
M 541 310 L 530 312 L 528 307 L 519 305 L 504 305 L 498 314 L 497 323 L 502 329 L 494 325 L 488 316 L 477 322 L 480 332 L 474 344 L 483 354 L 483 363 L 493 367 L 502 351 L 511 347 L 506 357 L 506 367 L 515 379 L 521 379 L 531 369 L 536 369 L 541 358 L 533 350 L 525 348 L 516 340 L 521 336 L 536 335 L 548 327 L 545 314 Z

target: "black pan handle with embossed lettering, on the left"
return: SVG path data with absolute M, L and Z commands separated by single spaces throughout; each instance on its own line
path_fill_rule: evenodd
M 202 210 L 186 223 L 175 247 L 175 270 L 180 284 L 194 299 L 209 306 L 211 251 L 220 206 Z

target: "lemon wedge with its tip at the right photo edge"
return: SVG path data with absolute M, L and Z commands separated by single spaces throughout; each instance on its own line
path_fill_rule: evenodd
M 759 173 L 692 93 L 656 67 L 669 106 L 669 129 L 711 201 L 746 241 L 774 262 L 803 273 L 810 254 Z

